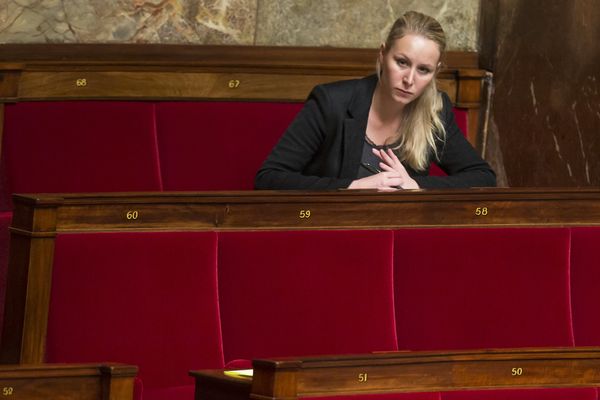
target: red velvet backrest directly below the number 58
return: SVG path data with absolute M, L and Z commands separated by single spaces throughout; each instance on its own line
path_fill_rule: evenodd
M 400 349 L 572 346 L 569 231 L 395 232 Z

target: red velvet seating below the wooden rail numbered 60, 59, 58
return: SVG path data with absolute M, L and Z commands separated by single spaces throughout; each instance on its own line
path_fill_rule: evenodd
M 598 240 L 600 228 L 59 234 L 47 361 L 135 364 L 137 398 L 192 399 L 189 370 L 254 358 L 600 345 Z

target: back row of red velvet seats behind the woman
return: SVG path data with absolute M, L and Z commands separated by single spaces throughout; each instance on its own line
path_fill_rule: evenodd
M 301 107 L 225 101 L 6 104 L 0 327 L 9 248 L 8 239 L 2 239 L 8 237 L 12 193 L 249 190 Z M 466 110 L 455 113 L 466 132 Z

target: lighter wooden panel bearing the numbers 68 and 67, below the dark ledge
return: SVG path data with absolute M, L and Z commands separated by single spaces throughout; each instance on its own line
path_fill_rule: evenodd
M 360 76 L 258 73 L 58 71 L 24 72 L 18 97 L 26 100 L 306 100 L 321 83 Z M 441 90 L 457 99 L 457 82 L 442 77 Z M 461 103 L 461 107 L 478 104 Z

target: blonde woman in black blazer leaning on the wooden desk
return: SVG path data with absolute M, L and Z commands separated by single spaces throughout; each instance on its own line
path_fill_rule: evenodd
M 495 186 L 437 91 L 446 38 L 409 11 L 381 45 L 377 75 L 319 85 L 258 171 L 257 189 Z M 447 177 L 428 176 L 430 162 Z

